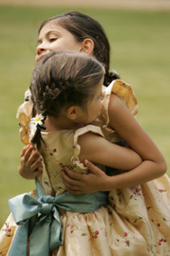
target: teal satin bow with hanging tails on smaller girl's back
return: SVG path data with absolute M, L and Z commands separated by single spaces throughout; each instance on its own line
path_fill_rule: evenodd
M 20 194 L 9 201 L 13 218 L 19 225 L 8 255 L 27 255 L 31 233 L 30 255 L 49 255 L 61 240 L 61 223 L 56 197 L 44 195 L 39 200 L 31 194 Z

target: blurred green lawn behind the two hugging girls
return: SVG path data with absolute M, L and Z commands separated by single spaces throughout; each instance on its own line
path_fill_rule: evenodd
M 31 80 L 37 31 L 41 21 L 70 9 L 0 8 L 0 226 L 9 213 L 8 199 L 34 188 L 33 181 L 18 175 L 22 143 L 15 114 Z M 139 100 L 139 123 L 166 157 L 170 175 L 169 13 L 76 10 L 103 24 L 112 46 L 112 68 L 133 85 Z

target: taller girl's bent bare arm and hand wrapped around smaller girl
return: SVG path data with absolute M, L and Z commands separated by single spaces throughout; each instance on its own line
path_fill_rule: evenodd
M 89 175 L 79 175 L 66 168 L 66 172 L 62 173 L 63 182 L 72 193 L 85 194 L 97 191 L 97 189 L 112 190 L 113 188 L 130 187 L 146 183 L 166 173 L 164 156 L 148 134 L 139 126 L 127 107 L 113 94 L 109 106 L 109 116 L 110 127 L 126 140 L 130 147 L 141 156 L 143 162 L 128 173 L 112 177 L 103 175 L 99 168 L 89 162 L 87 162 L 91 170 Z M 98 181 L 97 185 L 96 180 Z M 96 190 L 94 190 L 95 187 Z

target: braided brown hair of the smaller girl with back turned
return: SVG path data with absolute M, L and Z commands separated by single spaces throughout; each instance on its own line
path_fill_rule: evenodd
M 31 79 L 31 100 L 35 113 L 58 117 L 72 105 L 86 109 L 93 100 L 104 68 L 94 57 L 80 52 L 49 52 L 36 65 Z M 40 128 L 32 143 L 40 147 Z

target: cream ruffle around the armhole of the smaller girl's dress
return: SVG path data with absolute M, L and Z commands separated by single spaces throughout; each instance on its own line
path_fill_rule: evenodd
M 74 134 L 74 146 L 73 146 L 74 150 L 73 150 L 73 156 L 71 157 L 71 161 L 74 165 L 74 170 L 77 172 L 81 172 L 81 173 L 86 173 L 87 167 L 85 167 L 85 165 L 80 162 L 79 157 L 78 157 L 80 155 L 80 151 L 81 151 L 81 147 L 78 144 L 78 137 L 82 136 L 83 134 L 85 134 L 87 132 L 93 132 L 93 133 L 98 134 L 103 137 L 102 129 L 99 127 L 96 127 L 94 125 L 88 125 L 84 128 L 79 128 L 76 130 L 76 132 Z M 81 169 L 81 171 L 80 171 L 80 169 Z

